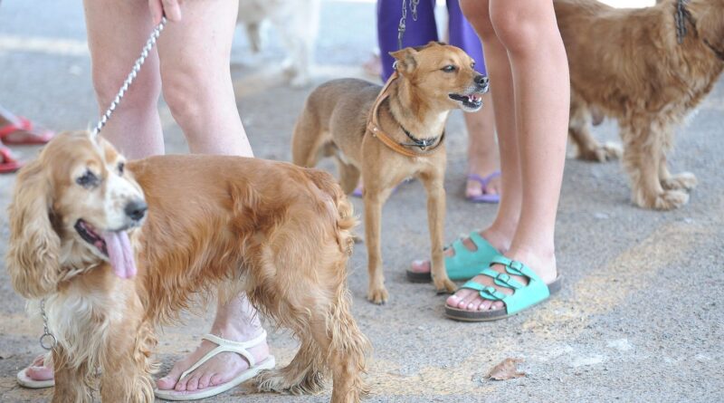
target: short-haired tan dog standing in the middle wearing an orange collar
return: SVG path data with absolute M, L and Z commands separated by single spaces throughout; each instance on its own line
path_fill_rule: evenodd
M 432 275 L 438 291 L 455 284 L 445 272 L 444 129 L 451 110 L 480 110 L 488 78 L 473 70 L 472 58 L 444 43 L 391 53 L 396 71 L 380 86 L 341 79 L 312 91 L 292 138 L 295 164 L 314 167 L 320 156 L 337 159 L 342 189 L 364 180 L 365 237 L 369 270 L 367 299 L 387 300 L 380 253 L 382 205 L 405 178 L 419 178 L 427 191 Z

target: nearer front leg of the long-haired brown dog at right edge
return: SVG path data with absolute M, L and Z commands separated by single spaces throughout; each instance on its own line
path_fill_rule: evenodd
M 664 158 L 662 126 L 645 118 L 621 122 L 624 139 L 624 168 L 631 178 L 633 203 L 656 210 L 671 210 L 689 201 L 681 190 L 664 190 L 659 177 Z

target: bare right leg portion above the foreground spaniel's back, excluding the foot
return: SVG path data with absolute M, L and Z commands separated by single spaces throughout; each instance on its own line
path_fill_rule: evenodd
M 238 2 L 187 2 L 158 41 L 164 98 L 191 152 L 252 157 L 230 70 Z

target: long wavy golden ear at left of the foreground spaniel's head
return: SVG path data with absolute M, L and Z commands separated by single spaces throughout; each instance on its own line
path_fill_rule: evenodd
M 52 293 L 60 276 L 61 239 L 52 229 L 51 191 L 41 162 L 33 161 L 18 174 L 8 208 L 7 271 L 15 291 L 29 299 Z

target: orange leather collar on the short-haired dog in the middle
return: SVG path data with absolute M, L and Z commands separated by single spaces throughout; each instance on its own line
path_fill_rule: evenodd
M 382 102 L 389 98 L 390 94 L 388 91 L 390 88 L 390 84 L 392 84 L 392 82 L 394 82 L 397 78 L 398 75 L 395 71 L 392 73 L 389 80 L 387 80 L 385 86 L 382 87 L 382 91 L 379 91 L 379 95 L 377 95 L 375 104 L 372 106 L 372 110 L 370 110 L 369 116 L 367 117 L 367 132 L 370 133 L 372 137 L 379 139 L 382 144 L 385 144 L 387 146 L 388 149 L 392 149 L 397 154 L 404 155 L 405 157 L 427 157 L 429 155 L 432 155 L 435 151 L 437 151 L 437 149 L 440 149 L 440 145 L 443 144 L 443 139 L 445 138 L 444 130 L 442 135 L 432 139 L 416 139 L 413 137 L 412 134 L 410 134 L 409 131 L 405 130 L 405 128 L 400 125 L 400 128 L 405 131 L 405 135 L 414 141 L 414 144 L 410 144 L 396 142 L 384 130 L 382 130 L 379 125 L 379 106 L 382 104 Z M 435 140 L 437 140 L 436 143 Z M 415 152 L 412 149 L 408 149 L 408 147 L 417 147 L 422 152 Z

